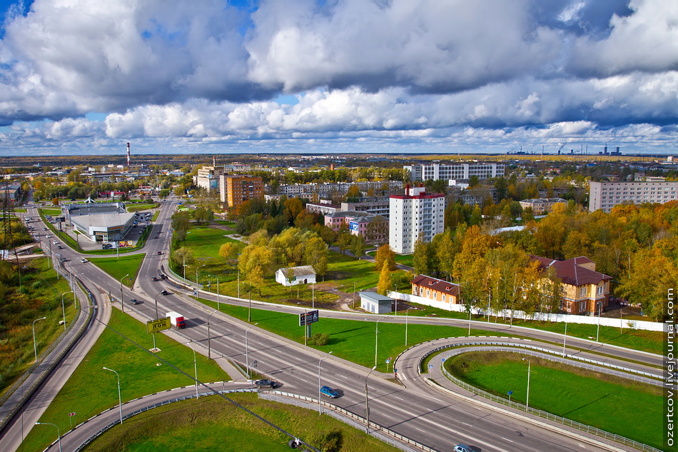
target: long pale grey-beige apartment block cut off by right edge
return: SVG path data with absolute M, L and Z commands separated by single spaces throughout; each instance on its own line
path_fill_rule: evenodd
M 678 199 L 678 182 L 591 182 L 589 211 L 609 212 L 617 204 L 664 204 Z

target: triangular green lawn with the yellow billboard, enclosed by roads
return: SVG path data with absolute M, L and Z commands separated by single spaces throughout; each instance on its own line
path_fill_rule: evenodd
M 113 309 L 111 321 L 91 351 L 87 353 L 66 386 L 50 403 L 40 422 L 55 423 L 61 433 L 69 431 L 69 413 L 76 413 L 74 425 L 118 403 L 118 381 L 108 367 L 120 375 L 123 403 L 133 398 L 165 389 L 188 386 L 195 382 L 166 363 L 161 363 L 148 348 L 153 338 L 146 333 L 146 325 Z M 116 333 L 116 330 L 120 334 Z M 136 346 L 133 342 L 138 343 Z M 193 376 L 193 351 L 188 346 L 158 334 L 156 343 L 161 357 Z M 228 381 L 230 378 L 213 361 L 197 354 L 198 380 L 203 382 Z M 160 365 L 158 365 L 160 364 Z M 73 419 L 71 419 L 73 421 Z M 40 426 L 24 440 L 24 450 L 41 451 L 54 437 Z

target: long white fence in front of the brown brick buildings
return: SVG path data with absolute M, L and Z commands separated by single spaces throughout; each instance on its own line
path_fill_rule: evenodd
M 445 309 L 445 311 L 465 312 L 466 306 L 463 304 L 442 303 L 442 301 L 431 300 L 423 296 L 412 295 L 410 293 L 389 292 L 390 298 L 396 298 L 399 301 L 411 301 L 412 303 L 432 306 L 434 308 Z M 486 315 L 485 308 L 478 307 L 473 309 L 473 313 Z M 511 311 L 505 309 L 504 311 L 495 312 L 490 309 L 490 316 L 500 316 L 510 318 Z M 541 313 L 537 312 L 533 315 L 526 315 L 522 311 L 513 311 L 513 318 L 522 318 L 527 320 L 547 321 L 547 322 L 567 322 L 567 323 L 588 323 L 590 325 L 597 325 L 600 322 L 601 326 L 613 326 L 614 328 L 631 328 L 636 330 L 647 331 L 665 331 L 666 325 L 662 322 L 649 322 L 643 320 L 623 320 L 620 318 L 598 317 L 598 316 L 573 316 L 572 314 L 555 314 L 555 313 Z

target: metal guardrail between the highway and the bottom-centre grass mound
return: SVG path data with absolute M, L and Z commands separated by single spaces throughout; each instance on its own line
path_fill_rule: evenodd
M 318 399 L 299 396 L 298 394 L 293 393 L 284 393 L 282 391 L 273 391 L 273 393 L 260 392 L 259 397 L 265 400 L 272 400 L 280 403 L 288 403 L 289 405 L 300 406 L 301 408 L 308 408 L 310 410 L 314 410 L 318 407 Z M 332 416 L 338 421 L 346 423 L 353 428 L 358 428 L 359 430 L 368 430 L 367 433 L 370 436 L 373 436 L 379 441 L 383 441 L 390 446 L 399 448 L 401 451 L 438 452 L 436 449 L 424 446 L 422 443 L 418 443 L 407 436 L 400 435 L 400 433 L 395 433 L 395 431 L 385 428 L 384 426 L 380 426 L 378 423 L 374 423 L 373 421 L 370 421 L 369 428 L 365 428 L 365 418 L 362 416 L 351 413 L 350 411 L 340 408 L 339 406 L 335 406 L 332 403 L 325 401 L 320 401 L 320 403 L 322 403 L 323 406 L 330 408 L 328 411 L 325 411 L 325 414 L 328 414 L 329 416 Z M 409 447 L 409 445 L 414 446 L 416 449 Z

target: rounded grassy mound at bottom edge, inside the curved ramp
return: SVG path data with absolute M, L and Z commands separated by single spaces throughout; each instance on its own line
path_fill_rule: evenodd
M 363 431 L 330 416 L 283 403 L 258 400 L 255 394 L 228 394 L 248 410 L 320 450 L 328 436 L 343 452 L 397 451 Z M 187 442 L 187 438 L 191 438 Z M 88 452 L 283 452 L 289 437 L 217 396 L 172 403 L 141 413 L 97 438 Z M 338 450 L 338 449 L 332 449 Z

